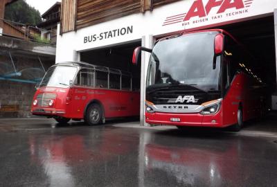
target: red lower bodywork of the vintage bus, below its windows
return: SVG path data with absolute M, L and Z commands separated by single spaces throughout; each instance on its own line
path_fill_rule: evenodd
M 140 94 L 135 91 L 88 87 L 68 89 L 43 87 L 37 90 L 34 100 L 38 94 L 55 94 L 56 98 L 52 107 L 32 105 L 32 112 L 35 115 L 82 119 L 89 103 L 98 101 L 102 105 L 105 118 L 139 116 Z M 44 112 L 37 112 L 37 109 L 43 109 Z

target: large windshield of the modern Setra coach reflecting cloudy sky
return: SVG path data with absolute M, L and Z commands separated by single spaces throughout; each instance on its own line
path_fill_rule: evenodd
M 190 85 L 203 91 L 219 91 L 220 57 L 213 69 L 217 33 L 191 33 L 157 43 L 150 57 L 147 87 Z

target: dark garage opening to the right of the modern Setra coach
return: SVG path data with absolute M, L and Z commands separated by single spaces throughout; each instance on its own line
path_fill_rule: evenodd
M 274 36 L 274 16 L 242 21 L 236 24 L 220 26 L 244 46 L 256 58 L 253 71 L 266 84 L 267 108 L 271 108 L 271 95 L 276 91 L 276 52 Z M 277 132 L 277 112 L 271 111 L 261 121 L 249 122 L 245 129 Z

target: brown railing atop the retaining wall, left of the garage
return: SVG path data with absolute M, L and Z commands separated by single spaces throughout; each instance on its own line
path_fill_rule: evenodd
M 53 38 L 57 36 L 55 30 L 45 30 L 36 26 L 20 24 L 14 21 L 0 19 L 0 35 L 24 39 L 31 42 L 55 44 Z

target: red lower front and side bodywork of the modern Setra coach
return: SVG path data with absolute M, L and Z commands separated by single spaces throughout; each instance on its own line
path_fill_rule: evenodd
M 260 116 L 261 88 L 254 88 L 252 79 L 245 73 L 238 73 L 233 79 L 229 91 L 222 100 L 220 110 L 213 115 L 175 114 L 145 112 L 145 122 L 154 125 L 177 125 L 195 127 L 228 127 L 238 123 L 238 107 L 242 105 L 243 120 Z M 172 122 L 170 118 L 179 118 L 180 122 Z

